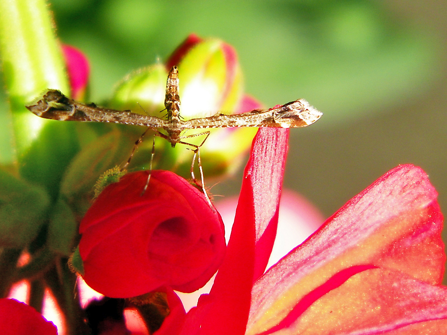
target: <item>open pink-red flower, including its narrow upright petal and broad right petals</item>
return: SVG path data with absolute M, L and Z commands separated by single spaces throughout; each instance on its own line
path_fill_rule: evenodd
M 275 234 L 284 143 L 287 130 L 257 134 L 227 255 L 179 334 L 446 333 L 443 216 L 413 165 L 382 176 L 258 278 Z

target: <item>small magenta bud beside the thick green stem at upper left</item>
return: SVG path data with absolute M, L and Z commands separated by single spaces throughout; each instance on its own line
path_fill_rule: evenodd
M 70 87 L 72 88 L 72 98 L 83 100 L 87 84 L 89 83 L 89 61 L 80 50 L 73 46 L 63 44 L 62 51 L 67 66 Z

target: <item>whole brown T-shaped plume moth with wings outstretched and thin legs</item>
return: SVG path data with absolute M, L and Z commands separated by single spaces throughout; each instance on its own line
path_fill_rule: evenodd
M 188 129 L 222 128 L 222 127 L 276 127 L 291 128 L 309 126 L 318 120 L 323 113 L 313 108 L 304 99 L 295 100 L 285 105 L 281 105 L 267 110 L 252 110 L 251 112 L 225 115 L 217 113 L 211 117 L 200 117 L 183 121 L 180 116 L 180 97 L 178 95 L 178 69 L 176 66 L 169 71 L 166 82 L 166 96 L 164 107 L 167 111 L 166 120 L 159 117 L 141 115 L 130 111 L 119 111 L 97 107 L 94 104 L 85 105 L 64 96 L 57 90 L 48 90 L 40 100 L 34 105 L 26 106 L 31 112 L 39 117 L 61 121 L 93 121 L 93 122 L 114 122 L 127 125 L 146 126 L 148 129 L 135 142 L 131 156 L 124 169 L 130 163 L 132 155 L 138 144 L 143 140 L 143 136 L 148 130 L 155 131 L 155 135 L 166 139 L 175 147 L 177 143 L 190 146 L 194 149 L 193 163 L 191 164 L 191 176 L 194 183 L 202 188 L 207 201 L 211 206 L 211 201 L 207 195 L 203 182 L 202 164 L 200 162 L 199 149 L 208 138 L 210 131 L 200 134 L 181 136 L 181 132 Z M 164 131 L 164 132 L 162 132 Z M 187 138 L 205 135 L 204 140 L 199 145 L 185 142 Z M 152 157 L 154 148 L 152 147 Z M 201 182 L 194 177 L 193 167 L 195 157 L 198 156 L 198 167 Z M 152 158 L 151 158 L 152 164 Z M 152 166 L 152 165 L 151 165 Z M 148 187 L 148 182 L 143 189 L 143 193 Z

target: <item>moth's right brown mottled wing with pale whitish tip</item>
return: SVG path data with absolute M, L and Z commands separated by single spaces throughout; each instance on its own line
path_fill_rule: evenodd
M 218 127 L 305 127 L 318 120 L 323 113 L 304 99 L 289 102 L 267 111 L 253 110 L 248 113 L 202 117 L 181 121 L 183 129 Z

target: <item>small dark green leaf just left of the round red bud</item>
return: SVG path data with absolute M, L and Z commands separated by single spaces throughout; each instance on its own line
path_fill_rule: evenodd
M 69 256 L 78 234 L 78 224 L 72 209 L 63 199 L 58 199 L 48 225 L 47 246 L 63 256 Z

